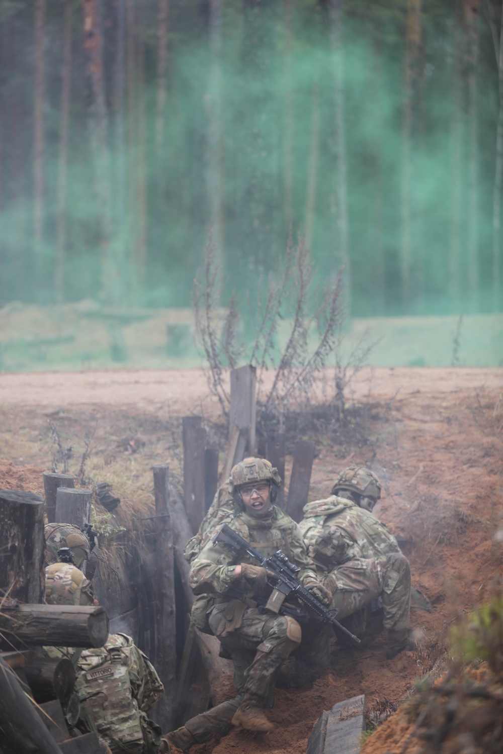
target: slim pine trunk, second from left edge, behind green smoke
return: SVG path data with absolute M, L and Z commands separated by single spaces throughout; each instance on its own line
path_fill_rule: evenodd
M 61 69 L 60 147 L 57 166 L 57 228 L 56 271 L 54 289 L 58 304 L 63 299 L 65 267 L 66 159 L 68 155 L 68 122 L 70 109 L 70 78 L 72 75 L 72 0 L 66 0 L 63 19 L 63 66 Z

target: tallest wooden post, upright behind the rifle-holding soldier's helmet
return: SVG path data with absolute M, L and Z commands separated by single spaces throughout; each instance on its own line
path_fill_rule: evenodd
M 232 465 L 242 461 L 244 454 L 255 452 L 256 423 L 256 369 L 251 364 L 231 371 L 231 407 L 228 416 L 228 437 L 232 439 L 233 429 L 244 433 L 244 447 L 241 443 L 235 452 Z

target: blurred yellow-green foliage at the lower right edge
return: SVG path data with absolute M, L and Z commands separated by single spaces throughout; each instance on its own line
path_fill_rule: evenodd
M 451 654 L 464 664 L 477 658 L 486 661 L 503 678 L 503 596 L 494 597 L 452 628 Z

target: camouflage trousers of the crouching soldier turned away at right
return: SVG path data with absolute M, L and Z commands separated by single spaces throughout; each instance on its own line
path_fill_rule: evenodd
M 381 596 L 384 627 L 400 631 L 409 625 L 410 566 L 402 553 L 378 559 L 354 558 L 336 566 L 322 581 L 332 593 L 332 607 L 339 608 L 338 620 Z

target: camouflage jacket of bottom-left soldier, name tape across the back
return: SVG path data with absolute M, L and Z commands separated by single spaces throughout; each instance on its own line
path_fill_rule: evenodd
M 44 653 L 72 659 L 75 649 L 44 647 Z M 103 647 L 84 649 L 76 670 L 75 692 L 81 703 L 83 731 L 96 730 L 114 754 L 158 751 L 161 731 L 146 712 L 161 698 L 164 687 L 130 636 L 109 634 Z

